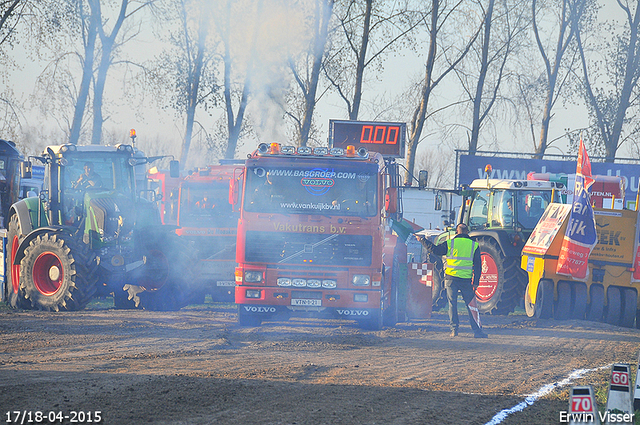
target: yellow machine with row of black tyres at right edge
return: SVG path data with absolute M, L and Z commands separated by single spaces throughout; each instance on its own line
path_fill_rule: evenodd
M 527 315 L 640 327 L 638 211 L 594 208 L 598 243 L 588 258 L 576 259 L 588 261 L 587 280 L 581 282 L 556 273 L 571 208 L 549 204 L 522 249 Z

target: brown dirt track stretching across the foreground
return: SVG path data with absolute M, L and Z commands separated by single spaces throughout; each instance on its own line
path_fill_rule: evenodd
M 0 422 L 15 423 L 9 411 L 41 411 L 89 423 L 98 411 L 104 424 L 558 424 L 568 386 L 492 418 L 576 369 L 605 367 L 574 382 L 600 393 L 612 363 L 631 363 L 635 376 L 638 329 L 482 319 L 488 339 L 474 339 L 468 324 L 450 338 L 445 313 L 363 331 L 319 319 L 241 328 L 231 305 L 3 307 Z

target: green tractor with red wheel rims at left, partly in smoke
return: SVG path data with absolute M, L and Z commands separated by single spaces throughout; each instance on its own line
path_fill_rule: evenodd
M 14 203 L 7 220 L 12 307 L 79 310 L 108 295 L 116 308 L 188 303 L 194 256 L 136 193 L 136 168 L 149 158 L 127 144 L 50 146 L 34 158 L 45 165 L 43 190 Z M 31 163 L 22 168 L 28 178 Z

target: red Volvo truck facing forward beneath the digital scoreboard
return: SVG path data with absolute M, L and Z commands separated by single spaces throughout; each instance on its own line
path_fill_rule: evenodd
M 230 192 L 240 206 L 235 301 L 241 325 L 291 315 L 355 319 L 369 329 L 398 320 L 398 264 L 407 258 L 389 222 L 400 213 L 398 165 L 357 142 L 262 143 L 247 159 Z M 240 183 L 243 189 L 234 187 Z

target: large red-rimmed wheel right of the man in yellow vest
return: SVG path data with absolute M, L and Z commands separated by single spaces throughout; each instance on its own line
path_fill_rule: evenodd
M 481 313 L 506 315 L 523 296 L 527 275 L 520 269 L 519 258 L 506 258 L 495 240 L 478 238 L 482 253 L 482 276 L 476 290 Z

